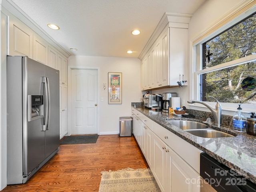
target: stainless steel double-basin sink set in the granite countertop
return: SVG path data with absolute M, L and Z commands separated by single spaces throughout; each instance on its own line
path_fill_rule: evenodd
M 198 137 L 204 138 L 220 138 L 234 137 L 231 134 L 224 133 L 208 127 L 206 124 L 188 120 L 167 120 L 166 122 Z

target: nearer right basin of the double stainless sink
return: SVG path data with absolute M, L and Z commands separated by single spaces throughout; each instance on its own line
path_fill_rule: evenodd
M 234 137 L 233 135 L 230 135 L 228 133 L 213 130 L 211 128 L 201 129 L 201 130 L 185 130 L 185 131 L 195 136 L 204 137 L 204 138 Z

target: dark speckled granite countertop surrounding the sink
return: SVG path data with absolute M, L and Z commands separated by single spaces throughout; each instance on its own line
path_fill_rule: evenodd
M 256 184 L 256 136 L 236 132 L 232 129 L 232 126 L 228 128 L 228 126 L 216 127 L 214 124 L 208 124 L 208 126 L 212 128 L 227 132 L 235 137 L 202 138 L 194 136 L 168 122 L 165 122 L 166 120 L 181 119 L 202 122 L 202 119 L 164 115 L 162 112 L 155 112 L 147 108 L 143 108 L 141 105 L 135 105 L 134 103 L 132 103 L 132 108 L 140 111 L 154 122 L 160 124 L 164 128 L 196 146 L 198 149 L 206 152 L 206 154 Z M 206 119 L 204 119 L 204 121 L 205 120 Z

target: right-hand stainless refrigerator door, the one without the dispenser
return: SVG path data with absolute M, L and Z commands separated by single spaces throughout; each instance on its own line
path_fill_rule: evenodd
M 46 158 L 60 146 L 60 85 L 59 71 L 45 66 L 49 86 L 49 121 L 45 131 Z

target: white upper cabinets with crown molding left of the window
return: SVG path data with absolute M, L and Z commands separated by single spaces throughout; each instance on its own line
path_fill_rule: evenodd
M 141 54 L 144 58 L 142 62 L 145 62 L 145 57 L 148 58 L 147 70 L 142 69 L 142 90 L 178 86 L 178 81 L 188 80 L 186 74 L 190 17 L 189 14 L 166 13 L 159 22 Z

